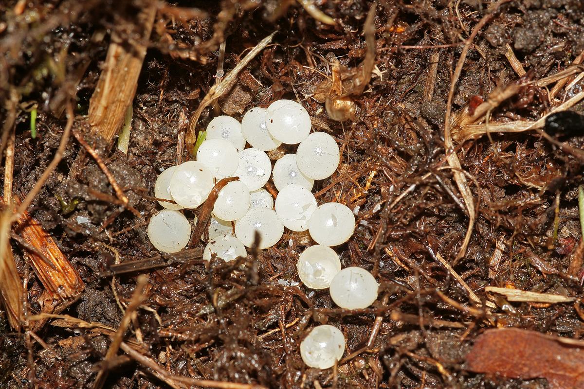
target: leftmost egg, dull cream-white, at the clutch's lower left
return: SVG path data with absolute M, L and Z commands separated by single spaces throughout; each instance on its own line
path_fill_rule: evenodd
M 150 218 L 147 233 L 152 246 L 157 250 L 176 253 L 189 243 L 189 220 L 179 211 L 163 209 Z

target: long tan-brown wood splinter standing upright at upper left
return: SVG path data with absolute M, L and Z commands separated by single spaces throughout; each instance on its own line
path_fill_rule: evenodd
M 89 100 L 88 116 L 92 131 L 107 141 L 111 142 L 120 130 L 126 110 L 134 99 L 156 8 L 157 2 L 153 1 L 138 13 L 136 36 L 132 40 L 116 33 L 112 35 L 105 68 Z

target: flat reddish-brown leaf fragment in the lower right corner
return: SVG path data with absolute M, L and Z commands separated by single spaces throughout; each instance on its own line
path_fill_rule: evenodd
M 477 337 L 467 355 L 467 369 L 513 379 L 545 378 L 552 389 L 582 389 L 582 361 L 584 342 L 502 328 Z

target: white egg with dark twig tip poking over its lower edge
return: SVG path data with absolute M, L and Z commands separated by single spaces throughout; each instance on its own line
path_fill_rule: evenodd
M 272 209 L 254 208 L 235 222 L 235 236 L 245 247 L 252 247 L 256 231 L 260 237 L 258 247 L 268 248 L 278 243 L 284 233 L 284 226 Z

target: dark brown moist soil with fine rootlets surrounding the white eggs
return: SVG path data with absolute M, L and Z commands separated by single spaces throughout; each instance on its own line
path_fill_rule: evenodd
M 241 120 L 251 107 L 265 107 L 281 98 L 299 99 L 317 119 L 315 127 L 335 136 L 342 163 L 338 173 L 315 184 L 317 192 L 326 189 L 318 202 L 339 201 L 359 210 L 353 237 L 336 251 L 343 267 L 374 271 L 378 263 L 380 297 L 371 309 L 352 313 L 337 309 L 327 290 L 314 293 L 297 285 L 298 252 L 311 242 L 305 234 L 286 233 L 276 246 L 251 255 L 255 265 L 243 271 L 221 261 L 194 264 L 183 275 L 178 267 L 142 271 L 151 284 L 144 302 L 147 308 L 137 310 L 143 353 L 172 374 L 271 388 L 547 387 L 545 379 L 509 380 L 469 372 L 465 355 L 485 328 L 496 326 L 581 339 L 582 316 L 573 304 L 509 303 L 500 297 L 489 321 L 464 313 L 438 294 L 472 305 L 465 290 L 434 258 L 439 253 L 454 263 L 468 217 L 451 170 L 439 169 L 444 166 L 450 80 L 463 45 L 433 46 L 467 38 L 492 2 L 380 1 L 374 19 L 373 77 L 363 93 L 350 97 L 356 114 L 342 123 L 329 119 L 324 103 L 314 96 L 323 85 L 329 91 L 327 79 L 335 58 L 345 73 L 355 72 L 363 62 L 367 45 L 362 32 L 372 3 L 315 4 L 333 17 L 335 26 L 318 22 L 297 2 L 161 3 L 167 9 L 161 8 L 156 16 L 138 80 L 127 155 L 85 133 L 143 219 L 90 192 L 115 197 L 91 157 L 85 158 L 77 177 L 69 177 L 80 152 L 73 136 L 30 207 L 31 215 L 57 241 L 86 284 L 79 300 L 63 313 L 118 327 L 123 313 L 113 290 L 127 306 L 139 272 L 117 276 L 112 283 L 112 277 L 102 273 L 116 256 L 105 245 L 117 250 L 121 262 L 158 254 L 145 226 L 160 206 L 148 195 L 153 194 L 161 169 L 176 163 L 179 129 L 186 128 L 186 118 L 215 84 L 220 43 L 227 42 L 224 70 L 230 71 L 249 48 L 277 30 L 272 44 L 246 66 L 218 107 Z M 131 39 L 142 6 L 145 3 L 0 3 L 3 128 L 10 113 L 10 91 L 20 95 L 15 108 L 13 194 L 26 195 L 53 158 L 65 126 L 64 96 L 74 94 L 74 128 L 82 128 L 112 31 Z M 183 17 L 191 6 L 209 16 Z M 584 50 L 583 25 L 584 5 L 578 0 L 503 3 L 468 52 L 453 111 L 467 106 L 474 96 L 486 99 L 496 85 L 516 82 L 519 77 L 504 55 L 506 44 L 526 68 L 525 78 L 540 79 L 566 68 Z M 92 40 L 99 32 L 103 39 Z M 429 58 L 436 53 L 440 61 L 434 97 L 423 102 Z M 570 93 L 581 90 L 580 83 Z M 496 108 L 491 120 L 539 118 L 547 108 L 545 96 L 544 88 L 526 88 Z M 563 91 L 558 95 L 569 97 Z M 38 107 L 34 139 L 29 113 L 33 104 Z M 572 110 L 582 113 L 584 106 L 580 103 Z M 204 110 L 199 128 L 217 114 Z M 579 128 L 550 135 L 582 149 L 583 134 Z M 468 141 L 457 149 L 463 169 L 472 177 L 477 222 L 455 271 L 481 299 L 487 297 L 485 286 L 582 296 L 584 270 L 566 273 L 580 240 L 577 187 L 583 182 L 582 161 L 536 132 L 491 138 Z M 280 155 L 293 149 L 281 149 Z M 188 158 L 186 152 L 182 157 Z M 430 176 L 422 178 L 427 173 Z M 411 185 L 414 190 L 387 212 L 385 205 Z M 557 195 L 559 222 L 554 223 Z M 185 213 L 193 219 L 193 212 Z M 506 247 L 498 269 L 489 275 L 498 240 Z M 29 274 L 22 246 L 13 241 L 12 247 L 20 274 Z M 36 296 L 43 289 L 33 274 L 27 283 L 29 313 L 39 312 Z M 214 301 L 221 303 L 213 308 Z M 392 312 L 409 316 L 396 321 L 390 317 Z M 374 344 L 338 369 L 310 369 L 300 359 L 301 339 L 322 323 L 343 331 L 345 356 L 363 349 L 376 314 L 383 322 Z M 454 324 L 420 327 L 430 319 Z M 281 328 L 289 323 L 293 324 L 283 334 Z M 4 311 L 0 328 L 2 388 L 90 387 L 110 344 L 110 338 L 99 331 L 73 331 L 48 323 L 37 333 L 50 347 L 47 351 L 11 332 Z M 127 339 L 138 332 L 133 325 L 130 328 Z M 438 366 L 444 370 L 440 372 Z M 120 360 L 105 387 L 166 384 L 133 360 Z

